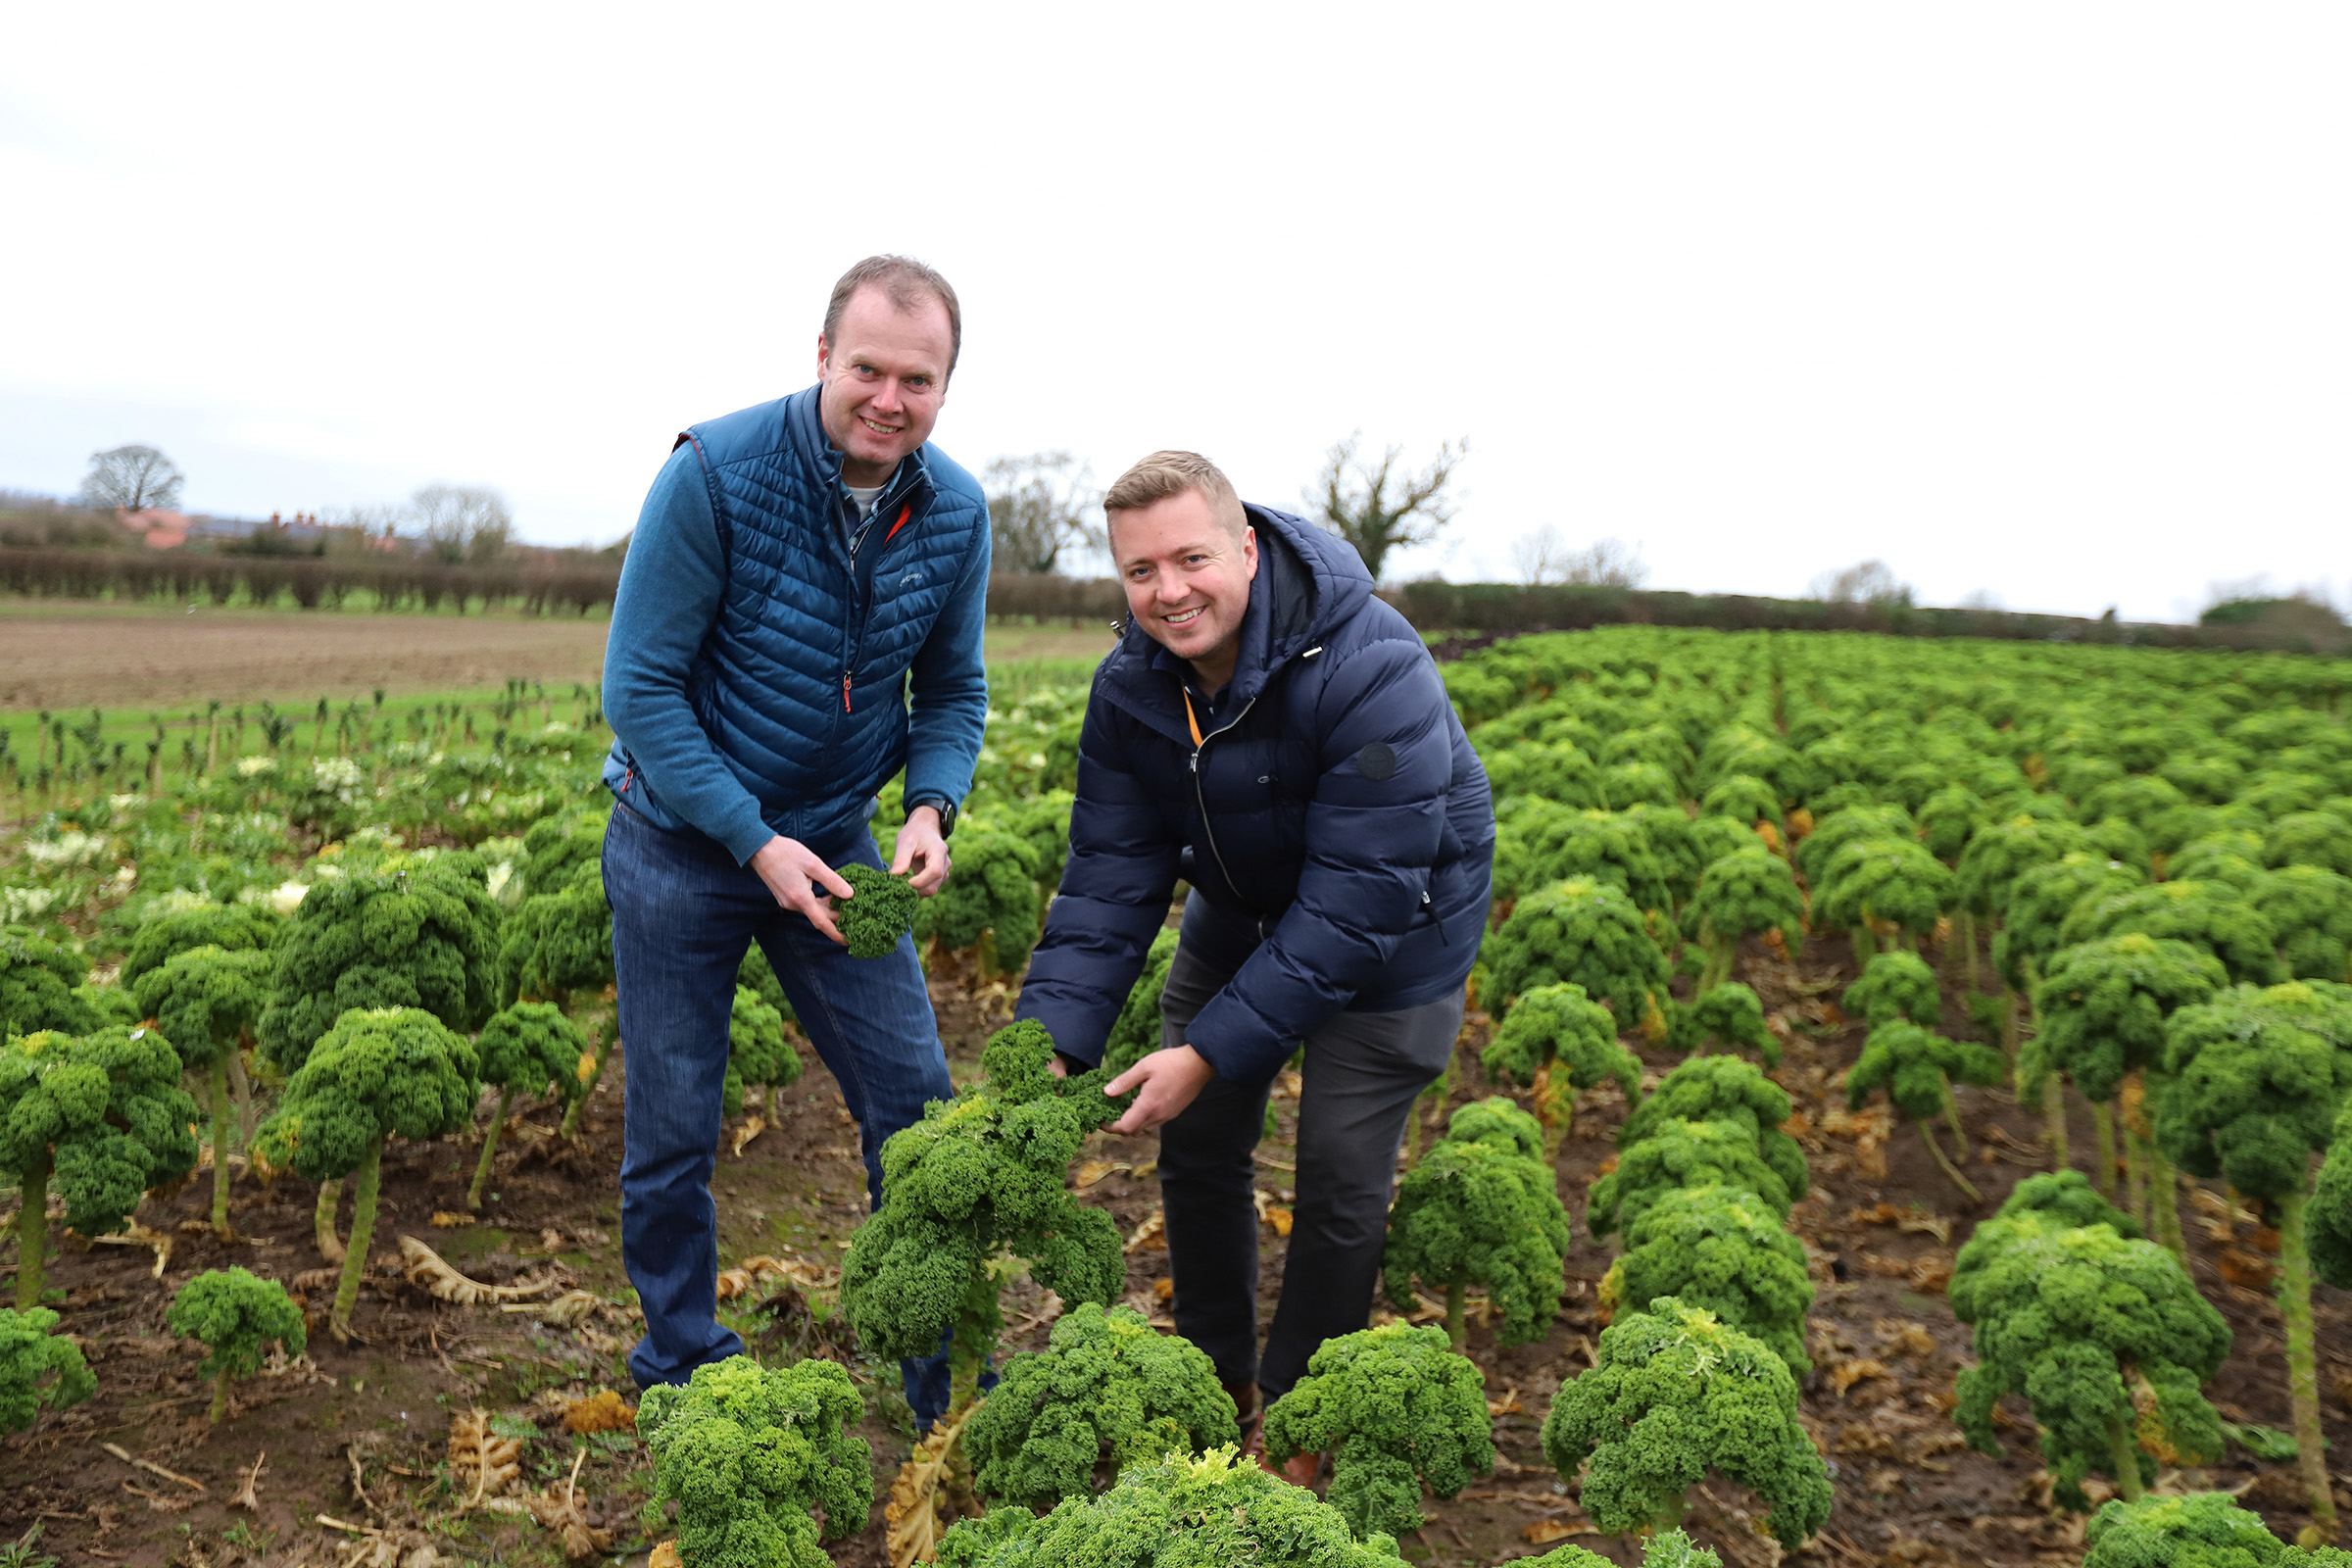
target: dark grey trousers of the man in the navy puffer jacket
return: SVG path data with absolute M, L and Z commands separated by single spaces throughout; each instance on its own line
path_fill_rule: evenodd
M 1160 999 L 1160 1044 L 1181 1046 L 1185 1027 L 1230 978 L 1178 940 Z M 1279 1399 L 1305 1375 L 1308 1356 L 1324 1340 L 1371 1321 L 1404 1119 L 1444 1072 L 1461 1025 L 1463 997 L 1456 992 L 1402 1013 L 1341 1013 L 1308 1037 L 1298 1201 L 1263 1361 L 1251 1150 L 1265 1128 L 1272 1079 L 1211 1079 L 1160 1128 L 1176 1333 L 1209 1352 L 1221 1382 L 1256 1382 L 1263 1399 Z

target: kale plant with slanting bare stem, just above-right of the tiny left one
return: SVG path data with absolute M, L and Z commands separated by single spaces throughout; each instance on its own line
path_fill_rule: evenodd
M 358 1175 L 350 1246 L 334 1291 L 329 1328 L 350 1338 L 350 1307 L 367 1272 L 367 1241 L 376 1227 L 376 1180 L 383 1140 L 447 1138 L 473 1124 L 480 1058 L 423 1009 L 353 1009 L 310 1048 L 287 1081 L 285 1100 L 254 1135 L 273 1164 L 289 1164 L 308 1180 Z

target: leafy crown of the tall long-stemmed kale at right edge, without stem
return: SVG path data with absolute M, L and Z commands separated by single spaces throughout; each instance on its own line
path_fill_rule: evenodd
M 2164 1030 L 2173 1086 L 2157 1100 L 2157 1145 L 2192 1175 L 2220 1175 L 2265 1201 L 2303 1190 L 2352 1088 L 2352 987 L 2239 985 L 2185 1006 Z

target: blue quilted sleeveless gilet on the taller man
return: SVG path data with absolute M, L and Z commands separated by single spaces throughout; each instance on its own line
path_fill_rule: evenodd
M 851 562 L 818 388 L 691 425 L 727 588 L 689 701 L 769 827 L 833 844 L 908 750 L 908 668 L 988 538 L 988 498 L 936 447 L 891 475 Z

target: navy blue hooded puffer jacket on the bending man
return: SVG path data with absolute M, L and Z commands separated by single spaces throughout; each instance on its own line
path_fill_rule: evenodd
M 1247 510 L 1258 576 L 1202 745 L 1185 665 L 1143 628 L 1094 675 L 1070 860 L 1018 1009 L 1087 1063 L 1178 877 L 1225 917 L 1188 917 L 1185 943 L 1221 936 L 1202 957 L 1235 971 L 1188 1044 L 1237 1081 L 1334 1013 L 1458 990 L 1486 929 L 1494 802 L 1428 646 L 1348 543 Z

